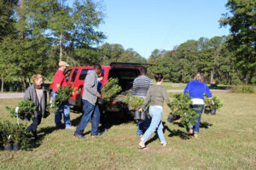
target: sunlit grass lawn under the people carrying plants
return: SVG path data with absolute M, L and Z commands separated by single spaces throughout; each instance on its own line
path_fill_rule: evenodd
M 0 169 L 256 169 L 255 94 L 221 94 L 224 107 L 216 116 L 203 114 L 200 139 L 189 138 L 179 123 L 166 122 L 162 147 L 155 135 L 149 150 L 138 150 L 137 124 L 116 122 L 102 137 L 74 139 L 73 130 L 55 130 L 54 115 L 38 127 L 40 140 L 30 151 L 0 151 Z M 1 120 L 10 120 L 5 105 L 20 99 L 0 99 Z M 81 114 L 71 113 L 77 125 Z M 121 119 L 121 116 L 113 116 Z

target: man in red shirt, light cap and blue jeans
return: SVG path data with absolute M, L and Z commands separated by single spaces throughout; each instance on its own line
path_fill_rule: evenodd
M 66 87 L 67 86 L 67 81 L 64 76 L 64 71 L 66 70 L 67 66 L 69 66 L 65 61 L 60 61 L 59 62 L 59 69 L 55 72 L 55 77 L 54 77 L 54 88 L 53 88 L 53 97 L 58 95 L 58 88 L 59 87 Z M 72 126 L 70 122 L 70 116 L 69 116 L 69 104 L 68 100 L 64 103 L 59 105 L 58 111 L 55 113 L 55 126 L 56 128 L 60 128 L 61 126 L 61 116 L 63 113 L 64 117 L 64 123 L 65 127 L 67 129 L 74 129 L 75 127 Z

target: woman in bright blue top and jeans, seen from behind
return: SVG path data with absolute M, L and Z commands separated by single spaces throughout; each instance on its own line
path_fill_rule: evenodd
M 189 94 L 192 98 L 193 110 L 199 113 L 199 116 L 196 117 L 197 122 L 195 122 L 194 126 L 189 127 L 189 133 L 194 133 L 194 137 L 198 138 L 199 127 L 201 124 L 201 113 L 204 110 L 204 94 L 207 94 L 207 97 L 212 100 L 212 93 L 207 87 L 207 84 L 203 82 L 201 73 L 195 74 L 194 80 L 187 84 L 183 93 Z

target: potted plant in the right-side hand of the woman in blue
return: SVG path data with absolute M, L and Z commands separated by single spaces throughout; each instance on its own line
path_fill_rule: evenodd
M 206 107 L 209 107 L 212 115 L 216 115 L 216 111 L 223 107 L 224 104 L 223 101 L 218 98 L 218 96 L 213 95 L 212 100 L 208 99 L 207 97 L 205 98 L 205 105 Z

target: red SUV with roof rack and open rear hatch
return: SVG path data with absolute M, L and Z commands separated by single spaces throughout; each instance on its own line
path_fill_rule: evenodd
M 107 108 L 108 111 L 120 111 L 121 109 L 123 109 L 121 98 L 123 95 L 131 91 L 132 82 L 136 77 L 139 76 L 139 68 L 142 65 L 146 64 L 113 62 L 108 66 L 102 66 L 102 73 L 104 74 L 102 86 L 104 86 L 106 82 L 108 82 L 108 79 L 110 77 L 113 77 L 119 79 L 119 86 L 121 86 L 122 88 L 122 92 L 119 95 L 119 98 L 116 99 L 113 104 Z M 68 99 L 69 105 L 78 106 L 81 108 L 83 104 L 82 94 L 84 91 L 84 79 L 87 75 L 87 71 L 92 69 L 93 66 L 80 66 L 70 68 L 65 72 L 67 84 L 72 85 L 74 88 L 82 88 L 80 94 L 75 94 Z M 49 86 L 49 100 L 53 99 L 52 91 L 53 83 L 51 83 Z

